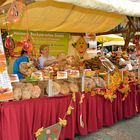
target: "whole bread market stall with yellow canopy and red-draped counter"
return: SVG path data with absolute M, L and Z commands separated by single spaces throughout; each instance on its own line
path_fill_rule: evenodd
M 0 106 L 1 140 L 74 139 L 140 112 L 139 63 L 134 69 L 127 52 L 87 54 L 97 50 L 93 32 L 110 30 L 125 16 L 72 3 L 25 7 L 19 1 L 0 18 L 0 100 L 8 101 Z

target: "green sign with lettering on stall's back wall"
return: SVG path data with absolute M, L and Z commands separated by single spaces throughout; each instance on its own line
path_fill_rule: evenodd
M 15 41 L 15 51 L 20 51 L 22 41 L 25 40 L 27 32 L 12 30 L 10 34 L 12 34 L 12 38 Z M 33 47 L 36 48 L 38 53 L 42 44 L 47 44 L 49 46 L 50 55 L 56 56 L 61 52 L 65 54 L 68 52 L 69 33 L 29 32 L 29 34 L 32 39 Z

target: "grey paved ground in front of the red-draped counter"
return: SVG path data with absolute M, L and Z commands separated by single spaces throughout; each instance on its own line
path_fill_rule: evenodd
M 140 114 L 74 140 L 140 140 Z

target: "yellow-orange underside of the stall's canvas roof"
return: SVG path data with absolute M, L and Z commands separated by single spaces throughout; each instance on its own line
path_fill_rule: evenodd
M 7 0 L 3 5 L 12 1 L 13 0 Z M 27 6 L 28 24 L 26 12 L 24 12 L 20 21 L 11 24 L 10 29 L 26 30 L 28 26 L 29 30 L 32 31 L 98 33 L 111 30 L 125 20 L 124 15 L 103 11 L 104 8 L 101 10 L 99 8 L 86 7 L 83 5 L 77 6 L 77 4 L 73 3 L 76 2 L 76 0 L 66 1 L 69 3 L 61 3 L 53 0 L 37 0 Z M 77 1 L 80 2 L 82 0 Z M 86 0 L 86 2 L 83 2 L 89 4 L 89 1 L 95 2 L 97 0 Z M 3 24 L 4 20 L 4 15 L 1 15 L 0 28 L 6 27 Z

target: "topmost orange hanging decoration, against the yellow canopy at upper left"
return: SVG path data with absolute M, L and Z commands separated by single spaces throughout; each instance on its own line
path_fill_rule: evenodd
M 14 1 L 7 13 L 6 19 L 8 23 L 14 23 L 20 20 L 23 11 L 24 11 L 24 4 L 22 1 Z

